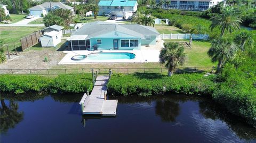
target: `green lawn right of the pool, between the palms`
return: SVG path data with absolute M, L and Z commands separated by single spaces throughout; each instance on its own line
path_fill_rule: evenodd
M 170 41 L 187 41 L 185 39 L 177 40 L 177 39 L 166 39 L 165 42 Z M 193 40 L 191 48 L 188 46 L 185 47 L 185 53 L 187 54 L 187 61 L 183 65 L 185 67 L 187 66 L 216 66 L 217 63 L 212 63 L 210 57 L 207 55 L 207 51 L 209 51 L 209 48 L 211 46 L 211 43 L 209 41 L 205 40 Z

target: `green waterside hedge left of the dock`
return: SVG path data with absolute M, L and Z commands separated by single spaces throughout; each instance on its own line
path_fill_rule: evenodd
M 65 74 L 46 77 L 42 75 L 0 75 L 0 89 L 3 92 L 21 94 L 24 92 L 70 92 L 92 90 L 90 74 Z

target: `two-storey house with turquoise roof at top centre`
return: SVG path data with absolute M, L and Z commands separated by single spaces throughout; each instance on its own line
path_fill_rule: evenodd
M 138 3 L 132 0 L 101 0 L 99 15 L 116 14 L 123 17 L 125 13 L 137 11 Z

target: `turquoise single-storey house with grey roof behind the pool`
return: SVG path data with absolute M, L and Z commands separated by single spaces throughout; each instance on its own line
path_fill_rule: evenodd
M 158 35 L 153 27 L 96 21 L 84 24 L 67 40 L 71 41 L 71 50 L 132 50 L 156 45 Z

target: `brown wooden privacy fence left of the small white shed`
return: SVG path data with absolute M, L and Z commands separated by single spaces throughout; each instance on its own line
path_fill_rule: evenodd
M 42 36 L 43 33 L 41 30 L 31 33 L 30 35 L 23 37 L 20 39 L 21 50 L 24 51 L 25 49 L 32 47 L 39 43 L 39 38 Z

